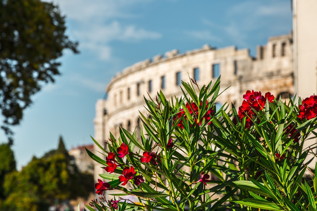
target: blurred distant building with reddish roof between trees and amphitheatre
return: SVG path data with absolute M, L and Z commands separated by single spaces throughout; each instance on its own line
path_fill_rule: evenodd
M 94 150 L 93 144 L 82 145 L 69 150 L 68 154 L 74 157 L 74 162 L 76 163 L 78 169 L 81 172 L 88 172 L 94 174 L 94 160 L 88 156 L 85 147 L 89 151 Z

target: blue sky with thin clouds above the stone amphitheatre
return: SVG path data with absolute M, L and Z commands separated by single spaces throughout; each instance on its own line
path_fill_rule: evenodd
M 164 54 L 201 48 L 249 48 L 292 29 L 290 0 L 55 0 L 80 54 L 64 52 L 61 76 L 44 85 L 13 128 L 18 168 L 57 147 L 92 143 L 95 103 L 124 67 Z M 6 137 L 0 133 L 0 142 Z

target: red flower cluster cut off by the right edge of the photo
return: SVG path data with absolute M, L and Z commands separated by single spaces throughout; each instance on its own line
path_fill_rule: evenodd
M 309 98 L 303 99 L 301 105 L 298 106 L 298 118 L 311 119 L 316 117 L 317 114 L 317 95 L 312 95 Z

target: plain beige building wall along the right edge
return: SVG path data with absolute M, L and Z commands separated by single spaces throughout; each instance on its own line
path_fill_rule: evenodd
M 294 81 L 296 92 L 302 99 L 317 94 L 316 11 L 317 0 L 293 0 Z M 307 141 L 304 148 L 316 141 Z M 308 156 L 311 157 L 313 155 Z M 313 169 L 314 161 L 309 166 Z

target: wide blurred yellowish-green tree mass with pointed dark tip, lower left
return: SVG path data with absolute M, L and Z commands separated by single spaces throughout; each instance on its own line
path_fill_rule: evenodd
M 60 150 L 65 147 L 62 138 L 59 146 Z M 65 150 L 33 157 L 21 171 L 7 174 L 3 185 L 6 199 L 0 210 L 47 211 L 56 200 L 87 198 L 93 191 L 93 175 L 80 173 Z

